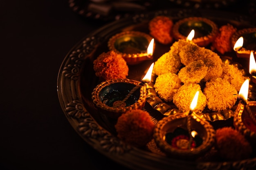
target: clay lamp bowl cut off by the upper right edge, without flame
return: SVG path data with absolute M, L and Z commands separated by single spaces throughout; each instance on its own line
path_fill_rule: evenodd
M 236 51 L 236 56 L 238 58 L 250 58 L 251 51 L 256 56 L 256 28 L 245 28 L 239 31 L 236 31 L 231 37 L 232 46 L 236 44 L 236 41 L 243 37 L 243 47 Z

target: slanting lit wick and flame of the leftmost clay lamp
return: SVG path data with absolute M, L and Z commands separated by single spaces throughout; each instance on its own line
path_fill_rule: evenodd
M 152 71 L 153 71 L 153 67 L 154 67 L 154 63 L 152 63 L 150 65 L 150 68 L 148 69 L 148 72 L 146 73 L 146 75 L 144 76 L 144 78 L 142 78 L 141 83 L 139 83 L 138 85 L 136 85 L 135 87 L 133 87 L 133 89 L 127 94 L 127 96 L 120 102 L 117 103 L 117 105 L 115 105 L 115 107 L 120 107 L 124 102 L 126 102 L 126 100 L 128 100 L 128 98 L 140 87 L 146 85 L 147 83 L 150 83 L 151 81 L 151 76 L 152 76 Z

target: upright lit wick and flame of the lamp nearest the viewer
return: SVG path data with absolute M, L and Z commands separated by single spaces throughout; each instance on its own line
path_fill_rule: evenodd
M 192 140 L 193 140 L 193 136 L 192 136 L 192 133 L 191 133 L 191 114 L 194 112 L 195 110 L 195 107 L 197 105 L 197 102 L 198 102 L 198 95 L 199 95 L 199 91 L 197 91 L 195 93 L 195 96 L 190 104 L 190 111 L 189 111 L 189 115 L 187 117 L 187 129 L 189 131 L 189 150 L 191 149 L 191 144 L 192 144 Z

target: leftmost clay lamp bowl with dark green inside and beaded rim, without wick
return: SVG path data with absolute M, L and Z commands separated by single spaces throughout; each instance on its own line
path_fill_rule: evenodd
M 142 109 L 146 103 L 146 85 L 138 87 L 140 83 L 127 78 L 103 81 L 93 89 L 93 103 L 110 118 L 118 118 L 128 110 Z M 121 102 L 134 87 L 138 89 L 126 101 Z

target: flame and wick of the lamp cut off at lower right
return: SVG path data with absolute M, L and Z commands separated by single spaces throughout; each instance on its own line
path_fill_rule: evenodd
M 249 90 L 249 78 L 245 80 L 245 82 L 243 83 L 243 85 L 240 88 L 240 91 L 238 93 L 238 99 L 240 100 L 241 104 L 243 104 L 245 106 L 245 110 L 247 111 L 247 113 L 249 114 L 249 116 L 252 118 L 252 120 L 255 122 L 255 117 L 249 107 L 249 105 L 247 105 L 247 98 L 248 98 L 248 90 Z

